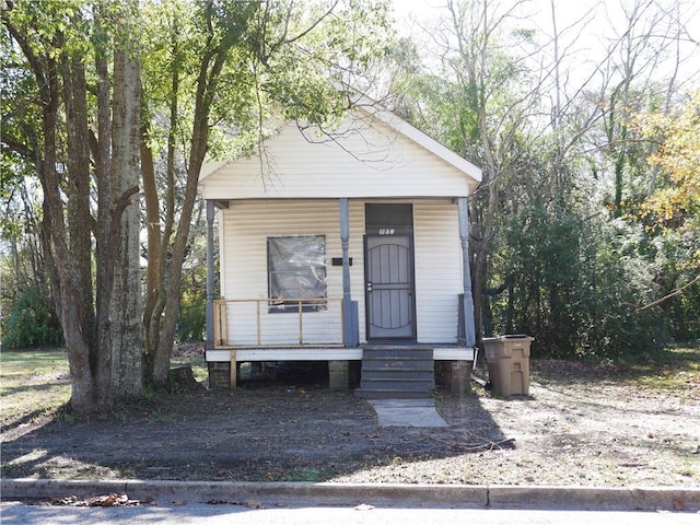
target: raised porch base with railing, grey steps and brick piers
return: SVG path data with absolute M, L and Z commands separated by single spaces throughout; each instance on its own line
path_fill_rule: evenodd
M 456 299 L 454 345 L 360 345 L 357 302 L 342 298 L 214 300 L 206 352 L 210 386 L 236 388 L 242 363 L 326 361 L 330 388 L 349 389 L 358 376 L 363 397 L 427 397 L 440 383 L 454 392 L 468 390 L 476 349 L 465 345 L 469 328 L 464 323 L 464 295 Z M 284 315 L 278 315 L 280 307 Z M 421 353 L 420 370 L 413 366 L 416 352 Z

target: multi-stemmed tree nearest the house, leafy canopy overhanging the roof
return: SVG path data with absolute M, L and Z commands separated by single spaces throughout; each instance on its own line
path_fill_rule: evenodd
M 151 7 L 155 32 L 164 38 L 144 62 L 150 72 L 141 149 L 149 234 L 143 325 L 147 375 L 162 384 L 205 159 L 262 148 L 272 115 L 322 122 L 347 108 L 347 93 L 334 82 L 347 84 L 382 52 L 388 24 L 385 2 L 374 0 L 185 0 Z M 233 141 L 225 139 L 232 135 Z

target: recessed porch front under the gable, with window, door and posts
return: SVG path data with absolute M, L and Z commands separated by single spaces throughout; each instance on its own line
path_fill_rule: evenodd
M 207 350 L 354 348 L 386 340 L 474 346 L 466 198 L 382 205 L 385 213 L 407 210 L 401 219 L 415 234 L 401 233 L 400 222 L 381 228 L 394 226 L 392 219 L 375 224 L 368 218 L 374 205 L 347 198 L 337 208 L 327 200 L 283 208 L 275 201 L 221 206 L 222 231 L 235 236 L 221 240 L 220 299 L 214 296 L 217 205 L 207 205 Z M 327 219 L 334 215 L 336 224 Z M 357 233 L 350 236 L 351 231 Z M 228 238 L 237 241 L 224 245 Z M 272 265 L 282 242 L 294 250 L 281 260 L 299 268 Z M 233 249 L 237 244 L 246 250 Z

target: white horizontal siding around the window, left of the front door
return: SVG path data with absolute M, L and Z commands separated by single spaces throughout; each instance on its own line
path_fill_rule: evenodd
M 352 203 L 350 217 L 350 256 L 353 258 L 351 293 L 353 299 L 357 299 L 363 293 L 364 285 L 362 266 L 364 214 L 361 203 Z M 231 202 L 231 207 L 221 212 L 221 223 L 222 232 L 225 234 L 222 249 L 222 261 L 225 261 L 225 265 L 222 264 L 221 267 L 223 299 L 267 298 L 267 237 L 275 235 L 325 235 L 327 295 L 342 298 L 342 267 L 331 266 L 334 257 L 342 256 L 337 200 Z M 304 313 L 304 342 L 308 345 L 342 342 L 339 308 L 338 301 L 329 301 L 327 312 Z M 268 314 L 265 304 L 260 310 L 262 345 L 299 342 L 296 314 Z M 361 331 L 363 331 L 364 310 L 362 307 L 360 320 Z M 230 303 L 226 324 L 230 342 L 256 343 L 257 323 L 254 305 Z

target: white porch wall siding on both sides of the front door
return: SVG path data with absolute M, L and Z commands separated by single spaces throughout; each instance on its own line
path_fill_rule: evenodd
M 364 202 L 350 201 L 351 293 L 359 304 L 360 340 L 366 342 L 364 311 Z M 331 266 L 341 257 L 340 219 L 337 200 L 265 200 L 231 202 L 220 211 L 225 236 L 221 253 L 224 299 L 265 299 L 267 237 L 272 235 L 325 235 L 326 282 L 329 298 L 342 296 L 342 268 Z M 419 200 L 413 205 L 417 331 L 420 342 L 455 343 L 457 295 L 462 292 L 462 261 L 457 207 L 447 199 Z M 268 314 L 261 308 L 264 345 L 298 342 L 296 314 Z M 243 305 L 229 308 L 231 342 L 255 345 L 256 317 L 252 306 L 242 317 Z M 328 312 L 304 314 L 306 343 L 341 342 L 339 304 Z M 234 323 L 236 326 L 234 327 Z

